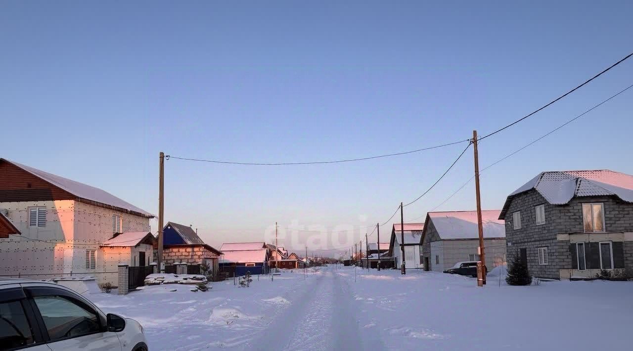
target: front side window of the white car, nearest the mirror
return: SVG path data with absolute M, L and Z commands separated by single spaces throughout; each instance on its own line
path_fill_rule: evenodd
M 96 312 L 61 296 L 35 297 L 51 342 L 101 330 Z

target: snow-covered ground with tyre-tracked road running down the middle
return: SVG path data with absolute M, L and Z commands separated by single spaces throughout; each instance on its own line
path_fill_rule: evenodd
M 594 350 L 633 343 L 633 282 L 507 286 L 489 275 L 334 266 L 233 281 L 208 292 L 146 286 L 91 295 L 141 322 L 151 350 Z M 170 289 L 177 288 L 176 292 Z

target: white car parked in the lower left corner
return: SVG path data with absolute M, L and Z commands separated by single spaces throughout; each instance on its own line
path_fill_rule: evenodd
M 134 319 L 104 314 L 55 283 L 0 278 L 0 350 L 147 351 Z

